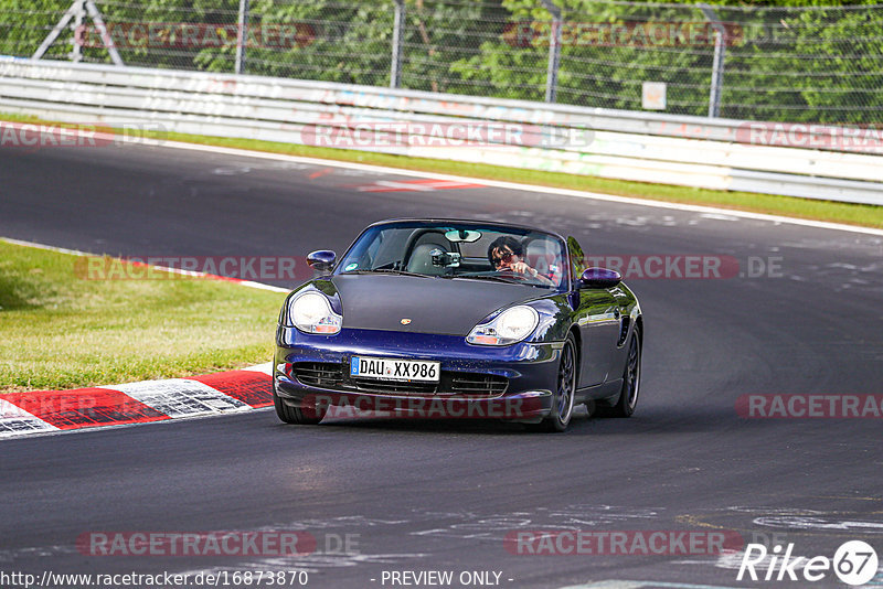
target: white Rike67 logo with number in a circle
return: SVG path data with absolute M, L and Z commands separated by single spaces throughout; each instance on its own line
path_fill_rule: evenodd
M 858 586 L 864 585 L 876 575 L 876 551 L 862 540 L 850 540 L 840 545 L 833 558 L 827 556 L 792 556 L 794 544 L 788 544 L 785 553 L 781 546 L 773 548 L 768 554 L 763 544 L 748 544 L 738 567 L 736 580 L 741 581 L 745 574 L 751 580 L 765 581 L 820 581 L 832 570 L 841 582 Z M 759 571 L 759 577 L 758 577 Z M 802 577 L 802 578 L 801 578 Z

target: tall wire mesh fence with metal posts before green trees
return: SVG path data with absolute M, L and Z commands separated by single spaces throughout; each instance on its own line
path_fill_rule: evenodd
M 0 0 L 0 54 L 733 119 L 883 124 L 883 4 Z

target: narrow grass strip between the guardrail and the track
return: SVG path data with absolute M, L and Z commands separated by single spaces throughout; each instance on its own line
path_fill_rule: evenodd
M 34 117 L 15 115 L 0 115 L 0 118 L 19 122 L 46 122 Z M 691 189 L 685 186 L 649 184 L 645 182 L 627 182 L 623 180 L 608 180 L 603 178 L 574 175 L 560 172 L 511 169 L 499 165 L 488 165 L 483 163 L 406 158 L 403 156 L 369 153 L 364 151 L 318 148 L 311 146 L 297 146 L 291 143 L 257 141 L 252 139 L 230 139 L 174 132 L 150 132 L 146 135 L 155 139 L 164 139 L 170 141 L 183 141 L 237 149 L 249 149 L 254 151 L 285 153 L 289 156 L 386 165 L 403 170 L 419 170 L 487 180 L 520 182 L 524 184 L 536 184 L 539 186 L 602 192 L 606 194 L 631 196 L 636 199 L 701 204 L 738 211 L 752 211 L 756 213 L 785 215 L 797 218 L 829 221 L 866 227 L 883 227 L 883 206 L 838 203 L 812 199 L 795 199 L 791 196 L 755 194 L 749 192 L 725 192 L 705 189 Z

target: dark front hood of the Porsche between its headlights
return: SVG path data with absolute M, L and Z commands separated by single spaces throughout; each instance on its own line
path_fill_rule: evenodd
M 344 328 L 464 336 L 497 309 L 544 293 L 524 285 L 400 275 L 338 275 L 331 281 Z

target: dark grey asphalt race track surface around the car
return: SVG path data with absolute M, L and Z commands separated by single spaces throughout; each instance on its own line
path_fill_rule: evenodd
M 377 180 L 409 179 L 146 147 L 7 150 L 0 235 L 113 255 L 302 256 L 342 251 L 372 221 L 460 216 L 555 228 L 593 255 L 727 255 L 743 268 L 749 256 L 777 256 L 781 276 L 630 280 L 647 331 L 638 413 L 581 410 L 561 436 L 483 422 L 288 427 L 257 411 L 3 441 L 0 570 L 299 567 L 323 588 L 390 587 L 384 570 L 492 570 L 512 588 L 783 585 L 737 582 L 737 563 L 715 556 L 503 547 L 510 531 L 562 528 L 776 534 L 796 555 L 829 557 L 865 539 L 883 556 L 880 419 L 748 420 L 735 410 L 753 393 L 881 393 L 881 238 L 541 192 L 352 188 Z M 47 344 L 63 353 L 55 335 Z M 349 534 L 355 554 L 95 557 L 74 547 L 91 531 L 227 529 L 304 529 L 320 549 Z M 841 585 L 829 575 L 812 586 Z

